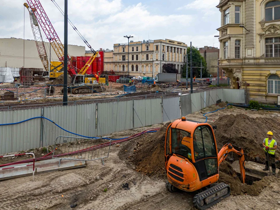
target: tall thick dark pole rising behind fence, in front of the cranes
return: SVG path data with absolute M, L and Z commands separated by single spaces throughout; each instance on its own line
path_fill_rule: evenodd
M 68 0 L 64 0 L 64 82 L 63 82 L 63 106 L 67 106 L 67 64 L 68 62 Z

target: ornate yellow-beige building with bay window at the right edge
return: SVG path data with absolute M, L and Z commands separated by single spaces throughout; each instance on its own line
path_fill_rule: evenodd
M 280 95 L 280 1 L 220 0 L 219 68 L 232 88 L 274 103 Z M 246 30 L 247 29 L 247 30 Z

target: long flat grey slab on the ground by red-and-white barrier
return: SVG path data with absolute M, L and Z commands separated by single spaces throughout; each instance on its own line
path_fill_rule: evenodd
M 32 164 L 32 163 L 28 163 L 28 164 Z M 8 168 L 8 167 L 15 167 L 15 166 L 22 166 L 22 165 L 27 165 L 27 163 L 4 166 L 0 168 Z M 80 167 L 85 167 L 86 165 L 87 165 L 86 161 L 84 160 L 61 160 L 60 165 L 59 165 L 59 159 L 37 161 L 35 162 L 35 179 L 36 179 L 36 174 L 80 168 Z M 6 180 L 6 179 L 17 178 L 22 176 L 32 176 L 32 175 L 33 175 L 33 166 L 0 170 L 0 180 Z

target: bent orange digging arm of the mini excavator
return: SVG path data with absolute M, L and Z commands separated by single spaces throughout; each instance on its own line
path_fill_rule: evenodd
M 240 176 L 241 182 L 245 183 L 245 157 L 243 148 L 240 148 L 240 151 L 233 148 L 231 143 L 225 144 L 218 153 L 218 162 L 219 165 L 225 160 L 228 153 L 233 152 L 239 156 L 239 166 L 240 166 Z

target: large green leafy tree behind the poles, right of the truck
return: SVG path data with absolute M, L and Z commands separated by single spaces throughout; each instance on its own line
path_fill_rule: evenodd
M 190 77 L 190 46 L 187 48 L 188 56 L 188 77 Z M 197 47 L 192 46 L 192 77 L 200 78 L 200 61 L 202 60 L 202 77 L 209 77 L 207 63 L 199 53 Z M 186 78 L 186 64 L 181 69 L 181 78 Z

